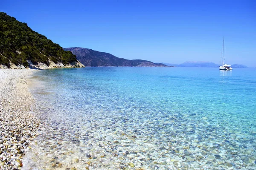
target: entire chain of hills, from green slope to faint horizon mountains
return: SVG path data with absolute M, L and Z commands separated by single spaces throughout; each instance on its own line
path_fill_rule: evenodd
M 0 68 L 72 68 L 72 67 L 218 67 L 213 62 L 182 64 L 154 63 L 142 59 L 124 59 L 88 48 L 62 48 L 26 23 L 0 12 Z M 234 64 L 233 68 L 246 68 Z

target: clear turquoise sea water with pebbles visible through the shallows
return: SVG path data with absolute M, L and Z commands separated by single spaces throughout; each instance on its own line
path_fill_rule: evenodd
M 255 68 L 52 69 L 30 90 L 27 167 L 256 169 Z

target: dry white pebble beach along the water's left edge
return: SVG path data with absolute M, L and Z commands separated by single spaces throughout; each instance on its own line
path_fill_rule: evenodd
M 0 169 L 17 170 L 23 166 L 20 159 L 35 136 L 39 119 L 33 114 L 32 94 L 26 77 L 33 69 L 0 69 Z

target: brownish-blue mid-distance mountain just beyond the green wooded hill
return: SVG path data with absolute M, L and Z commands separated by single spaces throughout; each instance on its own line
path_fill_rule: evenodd
M 154 63 L 142 59 L 124 59 L 112 54 L 94 51 L 88 48 L 71 47 L 63 48 L 64 51 L 71 51 L 86 67 L 167 67 L 162 63 Z

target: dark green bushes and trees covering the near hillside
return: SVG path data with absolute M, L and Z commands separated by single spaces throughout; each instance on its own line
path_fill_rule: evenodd
M 0 12 L 0 64 L 9 67 L 11 61 L 15 65 L 29 66 L 27 60 L 31 60 L 33 64 L 43 62 L 49 65 L 48 58 L 64 65 L 76 61 L 76 56 L 70 51 L 64 51 L 26 23 Z

